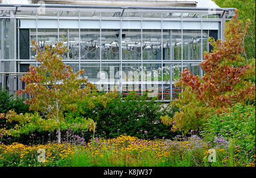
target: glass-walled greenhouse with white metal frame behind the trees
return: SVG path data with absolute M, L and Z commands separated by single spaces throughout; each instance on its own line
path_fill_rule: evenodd
M 0 86 L 23 89 L 19 77 L 40 65 L 31 40 L 42 49 L 63 42 L 63 62 L 74 72 L 84 69 L 82 77 L 98 90 L 149 92 L 168 102 L 180 92 L 174 84 L 183 69 L 203 76 L 208 38 L 223 40 L 233 15 L 208 0 L 2 1 Z

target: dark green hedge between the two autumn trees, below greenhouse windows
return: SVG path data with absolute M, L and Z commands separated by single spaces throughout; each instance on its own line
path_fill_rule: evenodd
M 99 100 L 88 102 L 81 101 L 76 112 L 67 113 L 67 118 L 93 118 L 97 123 L 96 134 L 113 138 L 120 134 L 138 136 L 141 138 L 170 138 L 175 136 L 171 133 L 170 126 L 164 126 L 160 122 L 161 115 L 173 115 L 169 108 L 163 108 L 161 102 L 155 102 L 153 98 L 147 101 L 147 96 L 129 95 L 125 98 L 117 97 L 104 103 Z M 91 100 L 92 101 L 92 100 Z M 88 105 L 94 105 L 89 108 Z M 140 131 L 142 130 L 142 131 Z M 144 133 L 147 131 L 147 133 Z M 104 133 L 103 133 L 104 132 Z M 89 138 L 90 135 L 87 135 Z

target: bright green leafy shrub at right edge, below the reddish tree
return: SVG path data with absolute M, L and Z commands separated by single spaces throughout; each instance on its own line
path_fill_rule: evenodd
M 255 106 L 234 104 L 227 113 L 210 116 L 201 134 L 210 142 L 222 135 L 243 150 L 238 155 L 254 155 Z

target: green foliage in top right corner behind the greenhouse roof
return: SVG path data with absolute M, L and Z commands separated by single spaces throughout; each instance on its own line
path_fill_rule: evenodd
M 255 60 L 255 1 L 254 0 L 214 0 L 220 7 L 237 8 L 239 19 L 246 21 L 250 19 L 251 25 L 245 36 L 246 59 Z

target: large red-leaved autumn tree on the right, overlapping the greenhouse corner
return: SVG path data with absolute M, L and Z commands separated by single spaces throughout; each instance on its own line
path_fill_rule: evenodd
M 251 62 L 243 56 L 243 38 L 249 24 L 238 20 L 236 12 L 226 23 L 225 41 L 209 38 L 213 51 L 204 52 L 205 60 L 200 64 L 204 76 L 195 76 L 188 69 L 181 72 L 176 86 L 184 91 L 171 104 L 179 111 L 173 118 L 162 117 L 163 123 L 172 125 L 174 131 L 186 133 L 203 126 L 204 119 L 212 112 L 224 112 L 237 102 L 255 101 L 255 82 L 251 80 L 255 76 L 255 60 Z

